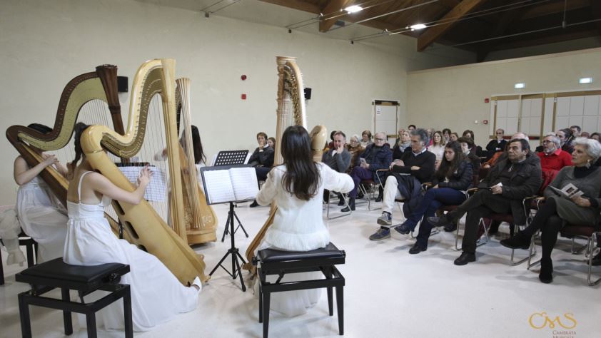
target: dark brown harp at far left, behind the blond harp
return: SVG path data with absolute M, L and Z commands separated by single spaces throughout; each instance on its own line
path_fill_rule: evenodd
M 6 138 L 21 154 L 29 167 L 34 167 L 43 159 L 32 146 L 49 152 L 68 148 L 78 118 L 91 111 L 100 112 L 101 116 L 96 116 L 96 121 L 102 121 L 107 125 L 108 116 L 110 116 L 115 132 L 123 133 L 121 105 L 117 93 L 116 66 L 98 66 L 96 71 L 76 76 L 67 83 L 59 100 L 54 128 L 50 133 L 41 134 L 24 126 L 11 126 L 6 130 Z M 86 117 L 90 121 L 89 116 Z M 72 159 L 73 156 L 59 156 L 59 158 L 65 160 Z M 42 170 L 40 176 L 49 185 L 56 198 L 66 207 L 66 194 L 69 186 L 66 178 L 52 166 Z M 117 231 L 118 223 L 110 216 L 107 219 L 113 231 Z

